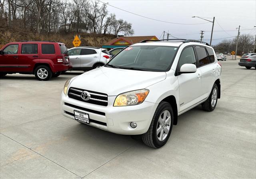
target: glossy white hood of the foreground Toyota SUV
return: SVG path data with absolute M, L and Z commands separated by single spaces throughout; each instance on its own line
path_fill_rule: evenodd
M 127 91 L 144 89 L 165 78 L 165 72 L 101 67 L 77 76 L 70 82 L 69 87 L 115 96 Z

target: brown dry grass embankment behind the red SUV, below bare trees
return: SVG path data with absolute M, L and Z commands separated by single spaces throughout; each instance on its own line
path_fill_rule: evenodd
M 102 34 L 87 34 L 77 33 L 80 35 L 82 41 L 81 46 L 96 46 L 101 47 L 106 42 L 115 38 L 113 35 Z M 72 48 L 72 41 L 76 33 L 49 33 L 49 34 L 36 34 L 34 32 L 28 32 L 20 30 L 18 28 L 0 28 L 0 44 L 7 44 L 9 42 L 20 42 L 22 40 L 54 40 L 56 42 L 62 42 L 66 44 L 68 48 Z

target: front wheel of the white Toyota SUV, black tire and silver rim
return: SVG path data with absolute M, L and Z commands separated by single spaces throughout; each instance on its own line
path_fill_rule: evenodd
M 164 125 L 161 125 L 160 122 L 162 121 L 161 119 L 164 117 L 164 114 L 167 117 L 165 121 L 167 122 L 168 119 L 169 121 L 167 123 L 165 122 Z M 172 106 L 170 105 L 170 103 L 167 103 L 165 101 L 160 102 L 158 107 L 156 108 L 153 119 L 148 128 L 148 131 L 142 134 L 142 141 L 146 145 L 152 148 L 162 147 L 164 144 L 166 144 L 166 142 L 168 141 L 171 135 L 173 119 L 174 119 L 174 115 L 173 115 Z M 168 129 L 168 127 L 169 127 L 169 131 L 166 134 L 165 128 Z M 157 129 L 158 129 L 158 132 L 157 132 Z M 163 137 L 161 138 L 161 136 Z

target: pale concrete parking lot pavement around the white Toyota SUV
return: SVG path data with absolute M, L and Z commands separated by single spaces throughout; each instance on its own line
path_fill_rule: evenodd
M 256 178 L 256 70 L 222 64 L 213 112 L 178 118 L 166 145 L 152 149 L 60 113 L 64 83 L 12 74 L 0 80 L 0 178 Z

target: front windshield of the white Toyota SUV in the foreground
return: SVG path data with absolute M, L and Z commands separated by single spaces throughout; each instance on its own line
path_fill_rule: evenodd
M 106 67 L 166 72 L 177 50 L 171 46 L 130 46 L 112 58 Z

